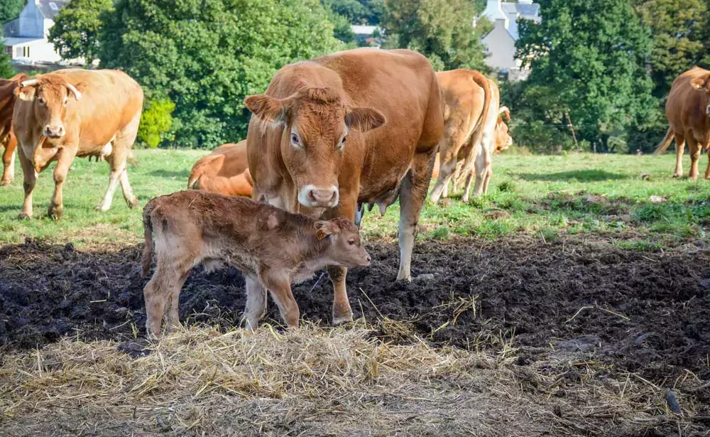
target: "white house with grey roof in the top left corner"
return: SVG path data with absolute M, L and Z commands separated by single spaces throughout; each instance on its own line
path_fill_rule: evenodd
M 1 0 L 0 0 L 1 1 Z M 28 0 L 20 16 L 3 25 L 5 53 L 14 62 L 57 63 L 62 58 L 48 41 L 49 29 L 70 0 Z

